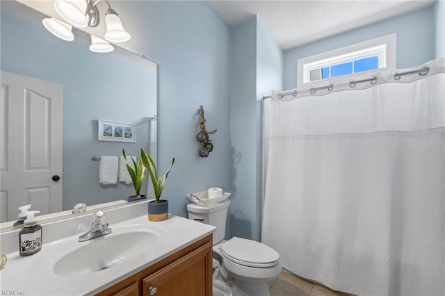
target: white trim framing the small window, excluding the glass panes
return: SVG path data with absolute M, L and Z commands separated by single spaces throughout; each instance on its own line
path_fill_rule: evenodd
M 350 60 L 359 60 L 360 58 L 368 58 L 371 56 L 379 56 L 379 69 L 368 71 L 373 73 L 385 68 L 396 68 L 396 33 L 385 35 L 380 38 L 367 40 L 356 43 L 348 47 L 326 51 L 314 56 L 300 58 L 297 60 L 297 86 L 301 87 L 303 83 L 311 83 L 309 73 L 313 69 L 320 69 L 330 65 L 337 65 Z M 359 72 L 357 74 L 363 74 Z M 354 76 L 350 74 L 348 76 Z M 344 76 L 323 79 L 321 81 L 335 81 Z M 319 82 L 319 81 L 312 81 Z

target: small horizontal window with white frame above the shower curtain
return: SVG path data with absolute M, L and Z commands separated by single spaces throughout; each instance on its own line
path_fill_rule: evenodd
M 396 67 L 396 34 L 316 54 L 297 61 L 297 85 Z

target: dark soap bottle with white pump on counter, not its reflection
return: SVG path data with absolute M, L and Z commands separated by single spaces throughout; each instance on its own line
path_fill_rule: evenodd
M 23 229 L 19 232 L 20 256 L 33 255 L 42 249 L 42 227 L 37 224 L 34 214 L 40 211 L 27 211 Z

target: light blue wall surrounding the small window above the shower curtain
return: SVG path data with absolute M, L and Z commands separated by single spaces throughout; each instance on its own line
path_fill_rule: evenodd
M 284 89 L 296 88 L 297 60 L 397 33 L 398 68 L 415 67 L 435 58 L 433 7 L 394 17 L 353 31 L 325 38 L 284 52 Z

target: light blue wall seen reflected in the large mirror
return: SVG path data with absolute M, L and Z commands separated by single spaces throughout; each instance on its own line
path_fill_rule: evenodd
M 134 194 L 132 185 L 99 185 L 99 162 L 90 157 L 119 156 L 122 148 L 138 155 L 140 147 L 147 149 L 148 116 L 156 113 L 156 72 L 92 53 L 88 44 L 65 42 L 3 11 L 1 70 L 63 85 L 63 209 Z M 98 119 L 136 123 L 137 142 L 97 141 Z

